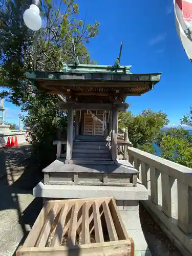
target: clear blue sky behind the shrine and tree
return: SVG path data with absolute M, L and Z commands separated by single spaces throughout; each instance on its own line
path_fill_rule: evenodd
M 91 58 L 100 65 L 114 65 L 123 40 L 121 65 L 133 73 L 162 72 L 154 90 L 141 97 L 127 97 L 130 110 L 162 110 L 170 125 L 192 105 L 192 65 L 177 35 L 173 0 L 78 0 L 80 17 L 100 22 L 99 34 L 88 44 Z M 6 102 L 5 118 L 18 123 L 18 108 Z

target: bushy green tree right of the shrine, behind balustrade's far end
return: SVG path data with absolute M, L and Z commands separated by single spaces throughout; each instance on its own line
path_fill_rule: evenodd
M 119 128 L 128 127 L 129 138 L 134 147 L 153 153 L 153 140 L 157 138 L 160 129 L 168 124 L 167 115 L 162 111 L 143 110 L 138 115 L 131 111 L 119 113 Z

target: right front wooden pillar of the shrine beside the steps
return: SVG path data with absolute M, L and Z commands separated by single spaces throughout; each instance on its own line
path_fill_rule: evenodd
M 112 112 L 112 134 L 111 134 L 111 146 L 112 146 L 112 160 L 117 159 L 117 109 L 113 109 Z

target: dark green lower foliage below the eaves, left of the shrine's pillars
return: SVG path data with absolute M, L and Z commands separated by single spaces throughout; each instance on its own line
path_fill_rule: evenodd
M 23 109 L 28 113 L 23 121 L 28 130 L 28 141 L 34 146 L 36 161 L 46 166 L 55 159 L 55 147 L 52 145 L 56 139 L 58 129 L 66 137 L 66 113 L 57 108 L 57 97 L 47 94 L 37 94 L 25 103 Z

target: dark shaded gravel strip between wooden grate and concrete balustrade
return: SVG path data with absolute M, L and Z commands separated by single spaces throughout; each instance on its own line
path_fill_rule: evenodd
M 139 215 L 141 227 L 152 256 L 182 256 L 183 254 L 168 239 L 152 216 L 140 203 Z

